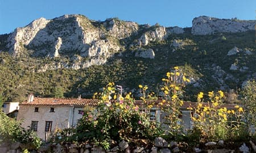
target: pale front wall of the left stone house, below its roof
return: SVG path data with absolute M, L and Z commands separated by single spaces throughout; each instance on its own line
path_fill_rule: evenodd
M 23 119 L 22 127 L 25 129 L 32 126 L 32 121 L 38 122 L 35 132 L 40 138 L 46 140 L 56 129 L 75 126 L 78 119 L 82 117 L 82 114 L 79 114 L 79 110 L 82 109 L 82 106 L 69 105 L 20 105 L 18 120 Z M 46 122 L 52 122 L 50 131 L 46 131 Z

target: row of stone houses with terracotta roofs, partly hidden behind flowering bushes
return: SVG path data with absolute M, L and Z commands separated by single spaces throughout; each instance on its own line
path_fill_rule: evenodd
M 148 101 L 158 104 L 161 100 Z M 113 101 L 115 102 L 115 101 Z M 84 98 L 39 98 L 32 95 L 28 100 L 19 104 L 18 119 L 23 119 L 22 127 L 31 129 L 43 140 L 47 140 L 49 135 L 57 129 L 75 127 L 82 117 L 85 106 L 95 107 L 98 100 Z M 136 100 L 143 110 L 142 101 Z M 184 130 L 192 128 L 191 111 L 187 107 L 195 107 L 195 102 L 184 102 L 180 107 Z M 233 108 L 228 104 L 225 107 Z M 163 123 L 164 113 L 156 105 L 150 110 L 150 120 Z

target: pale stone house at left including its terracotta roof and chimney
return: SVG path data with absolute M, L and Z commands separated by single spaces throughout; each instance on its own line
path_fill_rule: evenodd
M 20 103 L 18 120 L 22 127 L 31 129 L 43 140 L 57 129 L 74 127 L 82 117 L 85 106 L 96 106 L 97 100 L 82 98 L 38 98 L 28 96 Z

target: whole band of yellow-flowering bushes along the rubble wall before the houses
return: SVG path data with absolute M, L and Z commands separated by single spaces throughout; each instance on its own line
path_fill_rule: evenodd
M 135 104 L 131 93 L 122 97 L 114 83 L 110 82 L 103 92 L 94 94 L 94 98 L 100 100 L 99 105 L 85 107 L 77 127 L 57 130 L 51 142 L 75 143 L 80 147 L 94 144 L 108 150 L 125 140 L 130 148 L 144 146 L 150 149 L 156 137 L 163 137 L 168 141 L 179 142 L 177 145 L 182 151 L 193 152 L 194 147 L 205 147 L 207 142 L 224 140 L 225 146 L 222 147 L 238 149 L 243 142 L 256 140 L 255 133 L 249 130 L 253 122 L 245 119 L 250 112 L 240 105 L 228 109 L 224 107 L 225 95 L 221 90 L 197 94 L 197 105 L 187 108 L 191 110 L 193 129 L 185 131 L 179 115 L 180 106 L 183 105 L 183 88 L 190 80 L 179 67 L 174 67 L 162 81 L 164 97 L 157 104 L 150 101 L 153 95 L 148 92 L 147 85 L 138 86 L 142 103 Z M 255 82 L 247 89 L 254 90 L 253 85 Z M 247 99 L 253 100 L 251 97 Z M 152 107 L 159 108 L 164 114 L 162 122 L 150 121 Z M 251 109 L 255 109 L 255 106 Z

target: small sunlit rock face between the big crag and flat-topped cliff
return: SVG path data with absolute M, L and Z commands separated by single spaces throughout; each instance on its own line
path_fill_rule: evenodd
M 163 40 L 166 38 L 167 32 L 165 27 L 156 27 L 155 30 L 147 31 L 138 40 L 139 46 L 146 46 L 149 42 L 155 42 L 156 40 Z

